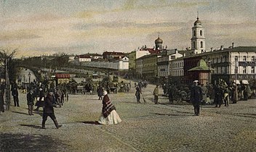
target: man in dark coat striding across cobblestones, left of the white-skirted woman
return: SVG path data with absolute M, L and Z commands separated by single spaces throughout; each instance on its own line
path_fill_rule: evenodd
M 61 124 L 57 123 L 57 119 L 55 117 L 54 107 L 57 107 L 57 106 L 56 106 L 56 102 L 55 102 L 55 96 L 53 93 L 54 93 L 54 90 L 50 89 L 49 93 L 47 94 L 47 97 L 45 98 L 45 101 L 44 101 L 43 121 L 41 123 L 42 129 L 45 129 L 45 122 L 47 121 L 48 116 L 55 123 L 55 127 L 57 129 L 62 127 Z

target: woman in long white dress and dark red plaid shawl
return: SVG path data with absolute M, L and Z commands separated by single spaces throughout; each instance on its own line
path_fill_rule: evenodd
M 116 112 L 116 107 L 111 103 L 108 98 L 107 91 L 103 92 L 103 109 L 98 122 L 100 124 L 118 124 L 121 122 L 119 114 Z

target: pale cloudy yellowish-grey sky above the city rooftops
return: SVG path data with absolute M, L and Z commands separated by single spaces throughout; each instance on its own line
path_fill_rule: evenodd
M 256 46 L 255 0 L 0 0 L 0 49 L 16 57 L 191 47 L 197 15 L 206 49 Z

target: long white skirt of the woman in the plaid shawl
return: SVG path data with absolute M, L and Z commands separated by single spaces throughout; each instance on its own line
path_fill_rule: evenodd
M 104 117 L 103 114 L 100 116 L 100 119 L 97 121 L 100 124 L 118 124 L 121 122 L 119 114 L 117 114 L 116 110 L 111 111 L 111 114 L 108 117 Z

